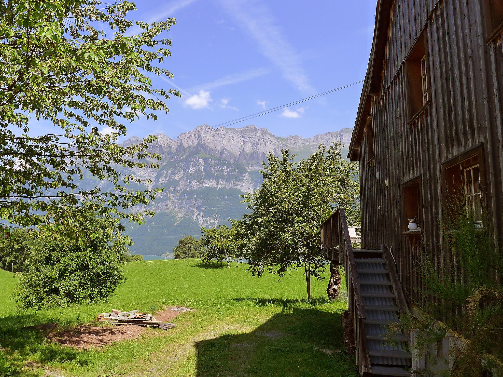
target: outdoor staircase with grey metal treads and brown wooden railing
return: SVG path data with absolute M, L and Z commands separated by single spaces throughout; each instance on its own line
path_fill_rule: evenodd
M 409 339 L 388 330 L 408 310 L 390 250 L 353 248 L 343 209 L 323 223 L 321 249 L 344 267 L 360 374 L 410 376 Z

